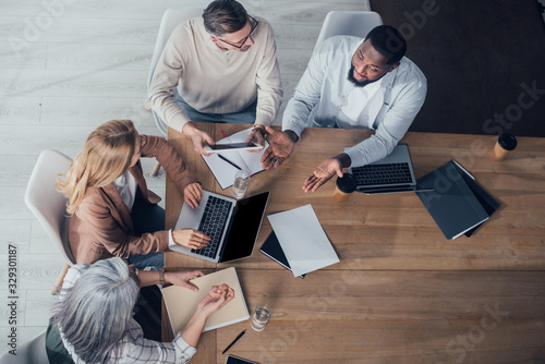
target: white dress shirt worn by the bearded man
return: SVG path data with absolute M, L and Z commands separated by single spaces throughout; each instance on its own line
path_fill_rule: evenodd
M 331 37 L 314 51 L 303 77 L 286 107 L 282 130 L 299 136 L 306 126 L 367 129 L 375 134 L 339 153 L 352 167 L 386 157 L 396 147 L 424 104 L 426 77 L 407 57 L 397 69 L 365 87 L 348 80 L 352 57 L 363 39 Z

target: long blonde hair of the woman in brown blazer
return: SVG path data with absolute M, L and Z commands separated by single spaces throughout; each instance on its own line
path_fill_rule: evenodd
M 110 120 L 87 136 L 64 179 L 57 178 L 57 190 L 68 197 L 70 215 L 75 213 L 88 187 L 104 187 L 128 170 L 135 138 L 136 129 L 131 120 Z

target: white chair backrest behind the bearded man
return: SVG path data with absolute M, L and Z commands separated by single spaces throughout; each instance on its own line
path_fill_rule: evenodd
M 353 35 L 365 38 L 383 19 L 374 11 L 330 11 L 324 20 L 314 49 L 325 39 L 336 35 Z

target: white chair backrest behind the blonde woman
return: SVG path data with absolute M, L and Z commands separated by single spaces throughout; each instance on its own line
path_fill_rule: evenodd
M 57 177 L 66 173 L 72 159 L 60 151 L 41 151 L 26 187 L 25 203 L 60 250 L 68 264 L 75 264 L 68 241 L 66 197 L 56 190 Z

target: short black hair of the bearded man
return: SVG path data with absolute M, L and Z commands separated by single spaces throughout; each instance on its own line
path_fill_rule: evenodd
M 386 64 L 398 63 L 407 52 L 407 41 L 393 26 L 379 25 L 367 34 L 367 39 L 373 48 L 388 59 Z

